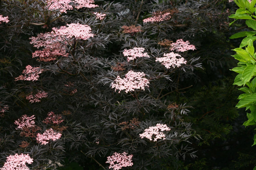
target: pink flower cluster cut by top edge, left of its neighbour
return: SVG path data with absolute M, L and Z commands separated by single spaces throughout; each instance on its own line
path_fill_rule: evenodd
M 47 7 L 49 10 L 60 10 L 60 12 L 67 13 L 67 10 L 72 10 L 73 7 L 69 5 L 71 0 L 47 0 Z

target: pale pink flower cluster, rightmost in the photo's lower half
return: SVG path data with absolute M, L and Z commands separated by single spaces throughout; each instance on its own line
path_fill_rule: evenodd
M 141 139 L 143 137 L 146 137 L 150 141 L 152 141 L 152 138 L 154 138 L 155 142 L 157 141 L 157 139 L 165 140 L 165 135 L 163 131 L 170 131 L 170 130 L 171 129 L 166 124 L 157 123 L 156 126 L 150 126 L 148 129 L 145 129 L 144 133 L 140 134 L 140 137 Z

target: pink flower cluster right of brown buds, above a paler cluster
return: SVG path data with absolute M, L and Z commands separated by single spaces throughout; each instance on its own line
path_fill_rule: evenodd
M 194 45 L 190 45 L 190 43 L 188 41 L 183 41 L 182 39 L 176 40 L 176 42 L 173 42 L 171 44 L 171 48 L 170 50 L 176 50 L 178 52 L 184 52 L 184 51 L 188 51 L 188 50 L 195 50 L 196 47 Z

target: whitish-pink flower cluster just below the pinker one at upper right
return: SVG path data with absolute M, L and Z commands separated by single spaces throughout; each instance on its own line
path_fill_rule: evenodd
M 179 56 L 180 58 L 177 58 Z M 181 55 L 176 53 L 164 53 L 164 57 L 156 58 L 156 62 L 162 63 L 167 69 L 170 69 L 171 67 L 175 68 L 180 67 L 181 64 L 186 64 L 187 61 L 181 57 Z

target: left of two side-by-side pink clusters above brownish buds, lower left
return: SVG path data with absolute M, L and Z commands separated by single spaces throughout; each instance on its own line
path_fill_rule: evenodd
M 18 120 L 14 122 L 14 124 L 18 125 L 16 129 L 32 128 L 35 126 L 34 119 L 36 119 L 35 115 L 30 117 L 27 115 L 22 115 Z

